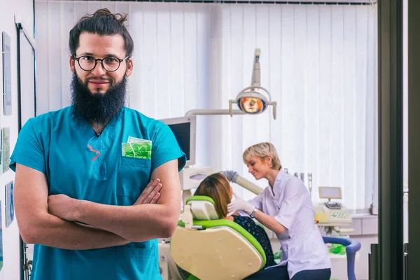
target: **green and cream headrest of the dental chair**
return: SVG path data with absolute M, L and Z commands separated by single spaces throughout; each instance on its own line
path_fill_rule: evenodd
M 188 197 L 186 204 L 190 205 L 194 220 L 208 221 L 221 218 L 218 216 L 216 208 L 214 208 L 215 203 L 211 197 L 193 195 L 192 197 Z

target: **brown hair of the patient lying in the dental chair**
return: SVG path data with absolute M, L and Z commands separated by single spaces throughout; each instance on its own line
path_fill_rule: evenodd
M 214 207 L 220 218 L 228 216 L 228 204 L 232 197 L 228 179 L 221 174 L 215 173 L 204 179 L 194 195 L 206 195 L 214 200 Z

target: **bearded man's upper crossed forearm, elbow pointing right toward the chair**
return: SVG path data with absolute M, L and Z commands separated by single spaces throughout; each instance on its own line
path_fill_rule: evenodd
M 136 242 L 169 237 L 179 218 L 179 212 L 162 204 L 113 206 L 85 200 L 77 204 L 77 221 Z

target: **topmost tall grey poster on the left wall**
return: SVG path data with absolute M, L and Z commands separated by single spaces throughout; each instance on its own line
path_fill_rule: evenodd
M 6 116 L 12 114 L 12 71 L 10 67 L 10 37 L 3 31 L 3 106 Z

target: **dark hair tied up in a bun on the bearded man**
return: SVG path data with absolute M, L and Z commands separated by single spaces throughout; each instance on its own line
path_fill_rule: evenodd
M 127 20 L 127 15 L 113 14 L 107 8 L 99 9 L 94 14 L 84 15 L 70 30 L 69 49 L 71 55 L 76 55 L 80 34 L 87 32 L 99 35 L 120 34 L 124 38 L 125 54 L 131 57 L 134 50 L 134 42 L 127 28 L 125 28 L 125 20 Z

